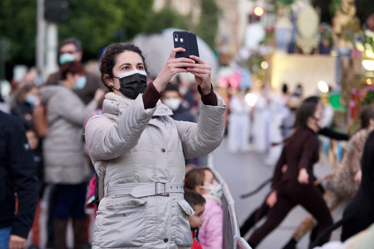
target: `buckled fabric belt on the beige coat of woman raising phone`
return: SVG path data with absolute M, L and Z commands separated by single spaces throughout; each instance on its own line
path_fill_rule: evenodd
M 168 193 L 184 193 L 183 182 L 178 183 L 121 183 L 108 186 L 106 195 L 116 196 L 130 194 L 135 198 L 145 196 L 168 196 Z

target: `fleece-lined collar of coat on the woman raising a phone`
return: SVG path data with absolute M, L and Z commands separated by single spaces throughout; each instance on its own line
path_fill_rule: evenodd
M 142 94 L 139 94 L 137 98 L 142 98 Z M 117 120 L 132 102 L 134 102 L 134 99 L 125 98 L 113 92 L 109 92 L 105 95 L 102 105 L 102 114 L 110 119 Z M 173 115 L 170 108 L 162 104 L 160 100 L 157 102 L 156 108 L 153 116 Z

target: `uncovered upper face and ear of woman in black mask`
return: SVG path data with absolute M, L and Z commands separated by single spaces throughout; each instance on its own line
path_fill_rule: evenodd
M 113 67 L 113 76 L 118 77 L 119 74 L 126 73 L 132 70 L 145 71 L 144 63 L 140 55 L 136 52 L 125 51 L 120 53 L 116 58 L 116 63 Z M 113 78 L 107 80 L 107 85 L 114 85 L 114 88 L 119 89 L 119 79 Z

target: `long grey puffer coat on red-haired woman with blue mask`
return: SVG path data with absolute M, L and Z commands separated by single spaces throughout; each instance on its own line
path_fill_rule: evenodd
M 45 182 L 74 185 L 88 181 L 83 124 L 97 108 L 97 101 L 85 105 L 73 90 L 62 85 L 43 86 L 40 95 L 49 124 L 43 140 Z

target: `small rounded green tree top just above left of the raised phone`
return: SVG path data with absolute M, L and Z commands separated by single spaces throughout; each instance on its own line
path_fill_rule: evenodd
M 161 33 L 165 28 L 180 28 L 188 29 L 188 17 L 181 16 L 176 11 L 165 7 L 159 12 L 152 13 L 148 27 L 145 30 L 147 33 Z

